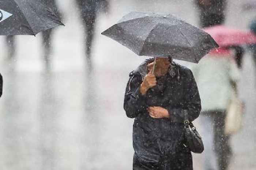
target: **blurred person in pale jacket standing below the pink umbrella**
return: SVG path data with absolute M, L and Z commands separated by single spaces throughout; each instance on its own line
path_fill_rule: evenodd
M 199 122 L 203 126 L 204 170 L 227 170 L 230 163 L 232 150 L 230 135 L 225 133 L 225 120 L 240 78 L 234 55 L 228 48 L 219 48 L 193 68 L 202 101 Z

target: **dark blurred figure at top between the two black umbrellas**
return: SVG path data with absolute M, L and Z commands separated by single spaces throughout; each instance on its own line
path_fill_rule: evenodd
M 90 71 L 92 70 L 91 45 L 93 43 L 93 38 L 95 34 L 94 31 L 97 12 L 108 12 L 109 0 L 76 0 L 76 3 L 78 4 L 80 16 L 84 25 L 85 57 L 87 63 L 87 70 L 90 73 Z

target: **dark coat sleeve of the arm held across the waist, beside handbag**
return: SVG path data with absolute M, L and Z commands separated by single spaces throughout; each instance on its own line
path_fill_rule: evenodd
M 188 70 L 184 83 L 184 99 L 181 102 L 181 107 L 173 108 L 169 106 L 166 108 L 170 114 L 170 121 L 172 122 L 184 122 L 185 110 L 188 112 L 189 121 L 195 120 L 201 111 L 201 100 L 191 70 Z

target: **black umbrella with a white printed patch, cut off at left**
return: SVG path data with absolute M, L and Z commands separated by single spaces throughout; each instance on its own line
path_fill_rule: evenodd
M 0 35 L 36 35 L 64 25 L 41 0 L 0 0 Z

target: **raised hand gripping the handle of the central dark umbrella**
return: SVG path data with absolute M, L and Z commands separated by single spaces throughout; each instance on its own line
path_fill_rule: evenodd
M 150 72 L 144 77 L 144 80 L 140 85 L 140 93 L 142 95 L 146 94 L 148 89 L 157 85 L 157 80 L 152 72 L 153 69 L 151 69 Z

